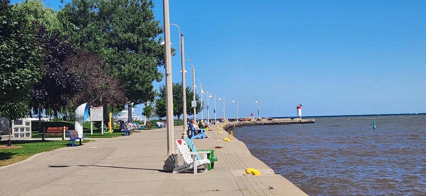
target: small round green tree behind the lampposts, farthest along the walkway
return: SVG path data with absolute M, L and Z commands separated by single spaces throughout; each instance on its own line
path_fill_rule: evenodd
M 191 107 L 191 101 L 193 97 L 193 91 L 190 87 L 186 87 L 187 94 L 187 115 L 193 115 L 193 108 Z M 182 83 L 173 82 L 173 116 L 180 118 L 180 115 L 183 114 L 183 102 L 182 102 Z M 197 107 L 196 113 L 198 114 L 201 106 L 200 96 L 196 94 Z M 155 106 L 157 108 L 158 117 L 162 118 L 166 116 L 166 88 L 164 85 L 160 86 L 160 92 L 158 98 L 155 100 Z

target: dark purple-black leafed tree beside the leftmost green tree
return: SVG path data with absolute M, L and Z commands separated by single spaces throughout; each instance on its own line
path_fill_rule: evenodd
M 34 22 L 37 24 L 38 22 Z M 55 114 L 62 106 L 67 106 L 83 87 L 77 82 L 77 76 L 71 73 L 63 62 L 76 53 L 75 47 L 67 37 L 58 30 L 49 33 L 46 27 L 37 24 L 37 41 L 43 48 L 46 75 L 32 90 L 32 108 L 35 112 L 39 107 L 52 109 Z

